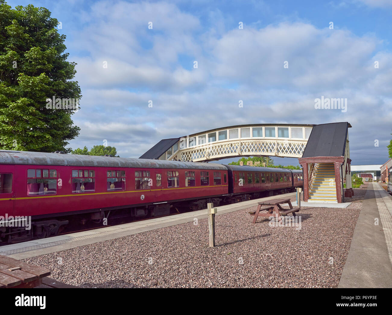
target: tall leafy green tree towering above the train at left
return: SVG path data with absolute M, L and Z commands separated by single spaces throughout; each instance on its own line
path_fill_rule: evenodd
M 73 108 L 46 108 L 48 98 L 82 97 L 57 25 L 44 7 L 0 0 L 0 149 L 67 152 L 79 135 Z

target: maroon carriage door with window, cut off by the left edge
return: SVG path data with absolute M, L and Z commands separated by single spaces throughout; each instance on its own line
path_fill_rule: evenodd
M 0 215 L 14 215 L 15 166 L 0 166 Z M 25 186 L 24 186 L 25 187 Z

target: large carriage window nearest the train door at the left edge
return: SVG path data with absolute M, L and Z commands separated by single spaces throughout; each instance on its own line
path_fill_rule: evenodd
M 43 178 L 44 177 L 44 178 Z M 55 169 L 28 169 L 27 195 L 45 196 L 57 192 L 57 171 Z

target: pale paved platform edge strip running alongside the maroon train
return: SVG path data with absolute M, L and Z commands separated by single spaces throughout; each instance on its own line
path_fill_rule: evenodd
M 279 195 L 279 197 L 295 197 L 296 193 L 287 193 Z M 229 204 L 217 207 L 217 215 L 237 211 L 252 206 L 257 206 L 258 202 L 276 198 L 276 196 L 258 198 L 236 204 Z M 159 218 L 151 218 L 148 220 L 130 222 L 107 228 L 92 229 L 82 232 L 76 232 L 46 239 L 31 240 L 29 242 L 21 242 L 17 244 L 5 245 L 0 247 L 0 255 L 8 255 L 15 259 L 25 259 L 36 257 L 48 253 L 54 253 L 64 249 L 71 249 L 78 246 L 102 242 L 105 240 L 116 239 L 127 235 L 151 231 L 176 224 L 192 222 L 195 218 L 207 218 L 207 209 L 198 211 L 179 213 Z

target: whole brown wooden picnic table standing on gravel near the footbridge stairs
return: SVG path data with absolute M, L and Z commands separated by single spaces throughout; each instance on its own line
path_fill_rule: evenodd
M 289 204 L 290 209 L 283 209 L 281 204 Z M 267 212 L 261 212 L 267 211 Z M 256 223 L 258 217 L 276 217 L 281 221 L 281 215 L 287 215 L 292 213 L 295 217 L 295 213 L 299 211 L 299 207 L 293 208 L 290 198 L 274 198 L 258 203 L 256 211 L 254 213 L 249 212 L 250 215 L 254 215 L 253 223 Z

